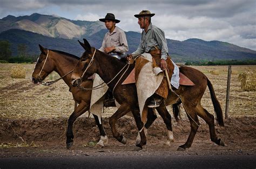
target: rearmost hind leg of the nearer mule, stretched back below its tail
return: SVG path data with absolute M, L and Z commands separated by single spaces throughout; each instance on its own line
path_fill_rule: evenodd
M 210 114 L 207 110 L 205 110 L 204 107 L 202 107 L 200 104 L 197 105 L 196 111 L 198 116 L 203 118 L 205 122 L 208 124 L 211 140 L 218 145 L 225 146 L 224 142 L 221 139 L 218 139 L 217 134 L 215 132 L 214 116 Z

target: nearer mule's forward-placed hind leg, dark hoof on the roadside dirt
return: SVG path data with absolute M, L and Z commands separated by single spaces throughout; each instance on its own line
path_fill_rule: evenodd
M 188 136 L 186 143 L 184 145 L 179 146 L 178 151 L 184 151 L 184 150 L 186 150 L 186 148 L 191 147 L 194 137 L 196 136 L 198 127 L 200 125 L 198 117 L 197 117 L 197 113 L 194 110 L 194 107 L 192 107 L 192 105 L 190 106 L 190 104 L 185 104 L 184 102 L 183 102 L 183 104 L 186 109 L 187 117 L 190 120 L 191 130 L 190 130 L 190 135 Z

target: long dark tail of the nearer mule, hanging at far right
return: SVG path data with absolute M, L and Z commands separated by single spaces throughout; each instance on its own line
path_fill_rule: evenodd
M 219 101 L 216 98 L 215 92 L 213 90 L 212 83 L 210 82 L 210 80 L 208 78 L 207 78 L 207 86 L 208 86 L 208 88 L 210 90 L 214 111 L 215 111 L 215 113 L 217 115 L 217 123 L 220 126 L 224 126 L 223 112 L 221 110 L 220 103 L 219 103 Z

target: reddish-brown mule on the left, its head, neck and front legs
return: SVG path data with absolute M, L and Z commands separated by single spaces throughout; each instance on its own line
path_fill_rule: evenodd
M 69 53 L 65 53 L 57 50 L 48 50 L 39 45 L 41 50 L 41 55 L 38 57 L 35 69 L 32 73 L 32 82 L 35 84 L 40 84 L 52 71 L 56 71 L 60 77 L 66 75 L 66 73 L 72 71 L 76 64 L 78 63 L 79 58 L 77 56 L 71 55 Z M 49 53 L 49 55 L 48 55 Z M 45 62 L 46 56 L 48 58 Z M 44 67 L 43 64 L 45 63 Z M 42 70 L 42 72 L 41 72 Z M 41 75 L 39 76 L 39 73 Z M 63 77 L 64 82 L 70 86 L 71 84 L 71 73 Z M 85 80 L 82 84 L 84 87 L 91 88 L 92 80 Z M 73 123 L 75 120 L 81 116 L 83 113 L 90 109 L 91 102 L 91 90 L 79 90 L 77 87 L 70 88 L 72 92 L 73 99 L 79 105 L 75 108 L 75 111 L 71 114 L 68 120 L 68 130 L 66 132 L 66 147 L 70 148 L 73 144 Z M 107 142 L 106 133 L 104 131 L 103 124 L 99 123 L 99 119 L 97 116 L 93 114 L 95 118 L 96 124 L 99 128 L 100 139 Z M 103 146 L 103 145 L 102 145 Z

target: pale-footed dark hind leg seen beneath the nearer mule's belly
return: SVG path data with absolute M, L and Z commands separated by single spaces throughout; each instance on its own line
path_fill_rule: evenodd
M 172 132 L 172 118 L 170 113 L 167 111 L 166 106 L 159 106 L 156 108 L 160 116 L 163 118 L 164 123 L 167 127 L 167 140 L 165 142 L 165 145 L 171 146 L 171 143 L 174 142 L 173 139 L 173 132 Z

